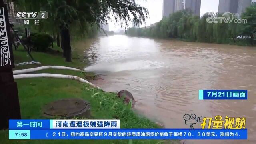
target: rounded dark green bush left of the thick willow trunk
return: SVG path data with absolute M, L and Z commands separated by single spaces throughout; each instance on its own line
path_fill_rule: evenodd
M 53 38 L 49 34 L 38 32 L 30 34 L 30 42 L 33 49 L 46 51 L 52 44 Z

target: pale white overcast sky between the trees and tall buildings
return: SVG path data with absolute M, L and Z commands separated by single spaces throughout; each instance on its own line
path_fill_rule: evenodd
M 149 11 L 149 17 L 146 20 L 146 26 L 154 24 L 162 19 L 162 7 L 163 0 L 148 0 L 143 2 L 143 0 L 137 0 L 137 4 L 144 6 Z M 201 12 L 200 15 L 206 12 L 218 12 L 219 0 L 201 0 Z M 132 24 L 130 24 L 132 27 Z M 110 31 L 119 31 L 120 25 L 115 25 L 113 22 L 109 22 Z

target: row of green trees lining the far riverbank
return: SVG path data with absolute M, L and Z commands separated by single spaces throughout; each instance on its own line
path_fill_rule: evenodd
M 207 18 L 219 18 L 222 14 L 208 12 L 201 18 L 194 16 L 190 10 L 180 10 L 169 17 L 164 17 L 150 28 L 130 28 L 130 36 L 144 36 L 156 38 L 179 38 L 192 42 L 236 43 L 236 36 L 248 35 L 253 41 L 256 32 L 256 6 L 246 9 L 242 15 L 248 23 L 238 24 L 233 21 L 208 23 Z

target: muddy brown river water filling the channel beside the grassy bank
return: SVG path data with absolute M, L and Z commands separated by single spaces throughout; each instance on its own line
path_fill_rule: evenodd
M 135 109 L 166 128 L 189 128 L 184 114 L 246 117 L 248 140 L 186 140 L 184 144 L 256 144 L 256 47 L 121 35 L 78 43 L 87 71 L 106 91 L 128 90 Z M 248 100 L 198 100 L 202 89 L 247 89 Z M 200 125 L 194 126 L 200 128 Z

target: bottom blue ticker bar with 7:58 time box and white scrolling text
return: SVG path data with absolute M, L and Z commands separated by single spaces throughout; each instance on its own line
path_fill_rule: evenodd
M 247 129 L 9 130 L 9 139 L 212 139 L 246 140 Z

